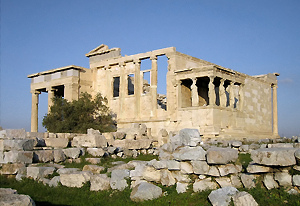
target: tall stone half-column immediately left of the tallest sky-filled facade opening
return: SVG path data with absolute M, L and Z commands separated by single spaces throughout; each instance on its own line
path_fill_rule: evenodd
M 152 61 L 152 68 L 151 68 L 151 84 L 150 84 L 150 93 L 151 93 L 151 102 L 152 102 L 152 109 L 151 113 L 154 117 L 157 116 L 157 57 L 150 57 Z

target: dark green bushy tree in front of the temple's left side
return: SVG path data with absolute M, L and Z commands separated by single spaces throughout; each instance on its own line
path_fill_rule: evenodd
M 113 131 L 115 122 L 106 105 L 107 99 L 100 93 L 94 99 L 90 94 L 82 93 L 78 100 L 72 102 L 54 97 L 50 112 L 43 118 L 43 126 L 56 133 L 86 133 L 89 128 Z

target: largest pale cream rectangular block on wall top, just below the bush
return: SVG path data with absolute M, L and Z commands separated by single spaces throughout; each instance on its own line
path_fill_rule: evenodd
M 106 147 L 107 140 L 103 135 L 82 135 L 73 138 L 74 147 Z

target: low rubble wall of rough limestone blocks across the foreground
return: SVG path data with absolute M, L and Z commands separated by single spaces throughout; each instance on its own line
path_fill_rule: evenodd
M 108 136 L 110 138 L 106 138 Z M 260 179 L 267 189 L 282 186 L 289 193 L 299 193 L 298 139 L 202 141 L 198 130 L 183 129 L 177 135 L 171 135 L 161 147 L 155 147 L 155 141 L 146 138 L 146 135 L 141 134 L 143 138 L 139 139 L 136 136 L 134 139 L 126 139 L 126 136 L 125 132 L 103 135 L 89 130 L 86 135 L 77 134 L 72 138 L 57 135 L 45 139 L 2 139 L 1 174 L 15 175 L 16 179 L 33 178 L 50 186 L 61 183 L 67 187 L 82 187 L 84 183 L 90 182 L 93 191 L 131 187 L 135 188 L 132 191 L 133 200 L 140 200 L 136 197 L 137 188 L 145 183 L 143 187 L 148 187 L 151 182 L 176 185 L 177 192 L 183 193 L 189 185 L 192 185 L 194 192 L 228 187 L 252 188 Z M 284 143 L 286 141 L 290 142 Z M 75 147 L 62 148 L 66 146 Z M 86 153 L 93 157 L 85 159 L 90 164 L 85 165 L 82 171 L 57 164 L 65 161 L 80 162 L 79 157 Z M 105 156 L 136 157 L 140 153 L 158 155 L 159 160 L 116 162 L 111 168 L 97 165 L 100 158 Z M 239 154 L 251 155 L 253 161 L 247 168 L 243 168 Z M 39 167 L 34 164 L 38 162 L 48 164 Z M 103 171 L 107 172 L 104 174 Z M 46 178 L 54 172 L 59 176 Z M 127 180 L 130 180 L 130 184 Z

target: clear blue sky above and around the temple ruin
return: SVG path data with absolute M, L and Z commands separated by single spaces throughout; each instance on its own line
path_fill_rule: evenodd
M 30 131 L 28 74 L 175 46 L 221 66 L 278 77 L 279 134 L 300 134 L 300 1 L 1 0 L 0 126 Z M 39 121 L 47 112 L 40 95 Z M 40 131 L 43 129 L 40 127 Z

